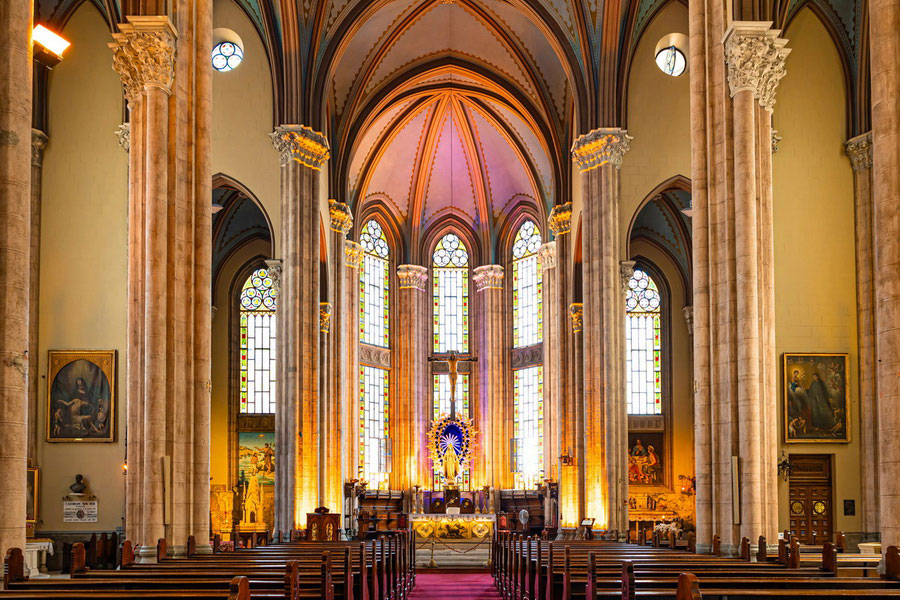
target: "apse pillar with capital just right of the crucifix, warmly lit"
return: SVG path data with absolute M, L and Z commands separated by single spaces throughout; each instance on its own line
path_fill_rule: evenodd
M 510 472 L 509 440 L 513 437 L 512 395 L 506 392 L 509 378 L 506 348 L 506 298 L 503 290 L 503 267 L 475 267 L 475 337 L 478 393 L 473 402 L 476 458 L 472 489 L 490 485 L 495 489 L 513 486 Z M 474 370 L 474 369 L 473 369 Z

